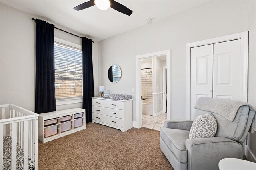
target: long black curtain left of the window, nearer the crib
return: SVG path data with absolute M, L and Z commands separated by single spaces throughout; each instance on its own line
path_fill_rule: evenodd
M 54 25 L 36 19 L 35 112 L 56 111 L 54 88 Z

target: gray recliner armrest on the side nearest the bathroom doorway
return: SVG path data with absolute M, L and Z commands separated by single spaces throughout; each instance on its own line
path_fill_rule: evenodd
M 164 121 L 164 127 L 170 129 L 182 129 L 190 131 L 192 123 L 192 120 L 167 120 Z

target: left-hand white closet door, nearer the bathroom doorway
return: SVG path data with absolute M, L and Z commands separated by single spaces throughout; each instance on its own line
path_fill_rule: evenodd
M 190 119 L 200 97 L 212 97 L 213 44 L 190 49 Z

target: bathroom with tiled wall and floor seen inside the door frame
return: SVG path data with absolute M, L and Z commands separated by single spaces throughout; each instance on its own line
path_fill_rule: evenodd
M 165 110 L 166 55 L 141 59 L 142 127 L 160 130 L 167 119 Z M 165 70 L 164 70 L 165 71 Z

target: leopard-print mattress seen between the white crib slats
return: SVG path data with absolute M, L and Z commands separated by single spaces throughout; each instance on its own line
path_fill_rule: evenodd
M 12 162 L 12 137 L 6 136 L 4 137 L 4 160 L 3 160 L 3 170 L 11 170 Z M 23 150 L 20 146 L 17 145 L 17 167 L 16 170 L 23 170 Z M 0 168 L 1 169 L 1 168 Z M 28 169 L 34 170 L 34 163 L 30 158 L 28 158 Z

